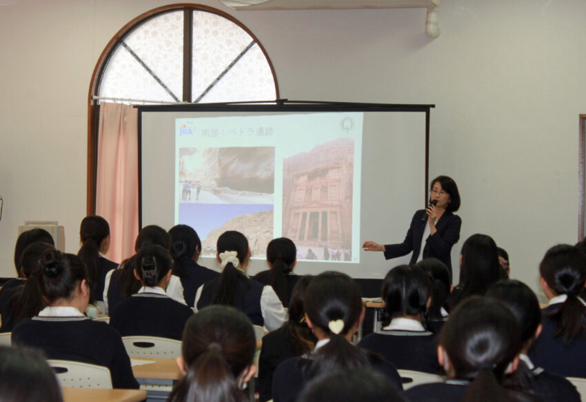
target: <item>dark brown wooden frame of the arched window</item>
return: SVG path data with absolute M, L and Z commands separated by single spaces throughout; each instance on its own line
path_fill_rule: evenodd
M 273 82 L 275 86 L 275 94 L 276 99 L 279 99 L 279 83 L 276 79 L 276 74 L 274 71 L 274 66 L 272 61 L 267 54 L 263 44 L 259 39 L 252 33 L 250 29 L 244 26 L 238 19 L 234 18 L 232 15 L 218 10 L 216 8 L 212 8 L 210 6 L 204 6 L 201 4 L 193 4 L 193 3 L 176 3 L 176 4 L 169 4 L 167 6 L 161 6 L 158 8 L 154 8 L 147 12 L 143 12 L 138 17 L 132 19 L 128 23 L 125 24 L 116 34 L 114 37 L 108 41 L 108 44 L 102 50 L 100 57 L 94 67 L 94 71 L 92 72 L 92 79 L 90 81 L 90 88 L 88 91 L 88 172 L 87 172 L 87 195 L 86 195 L 86 212 L 87 214 L 94 214 L 96 210 L 96 188 L 97 188 L 97 160 L 98 160 L 98 122 L 99 122 L 99 101 L 94 101 L 94 95 L 97 96 L 97 92 L 99 90 L 99 86 L 101 84 L 101 80 L 103 78 L 103 74 L 105 72 L 106 66 L 108 66 L 108 61 L 115 50 L 117 50 L 120 42 L 125 39 L 125 37 L 130 34 L 133 30 L 141 26 L 146 21 L 150 19 L 159 17 L 161 14 L 166 14 L 168 12 L 175 12 L 183 10 L 184 13 L 184 21 L 183 21 L 183 93 L 181 99 L 186 102 L 191 102 L 192 97 L 192 22 L 193 22 L 193 12 L 194 11 L 203 11 L 203 12 L 211 12 L 212 14 L 216 14 L 219 17 L 224 17 L 235 23 L 237 26 L 242 28 L 250 37 L 258 44 L 261 52 L 263 52 L 265 59 L 269 65 L 269 68 L 272 73 Z M 272 99 L 267 99 L 267 101 Z M 137 170 L 138 171 L 138 170 Z

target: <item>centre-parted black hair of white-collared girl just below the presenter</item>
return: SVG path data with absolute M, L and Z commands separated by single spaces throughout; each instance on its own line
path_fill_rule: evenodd
M 427 326 L 430 293 L 430 277 L 416 265 L 398 265 L 387 272 L 382 289 L 386 312 L 383 325 L 389 325 L 398 316 L 420 316 Z

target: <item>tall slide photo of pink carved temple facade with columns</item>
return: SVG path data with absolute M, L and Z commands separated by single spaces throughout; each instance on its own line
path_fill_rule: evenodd
M 354 139 L 315 145 L 283 161 L 283 236 L 298 259 L 351 261 Z

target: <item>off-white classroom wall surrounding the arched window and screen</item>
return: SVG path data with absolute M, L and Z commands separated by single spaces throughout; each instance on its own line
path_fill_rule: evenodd
M 14 272 L 25 220 L 58 220 L 77 252 L 92 70 L 119 28 L 167 3 L 0 0 L 0 277 Z M 577 241 L 585 1 L 446 0 L 438 39 L 425 37 L 425 10 L 234 12 L 200 3 L 256 34 L 283 98 L 436 105 L 430 175 L 454 177 L 463 200 L 454 265 L 463 241 L 486 233 L 509 251 L 512 276 L 536 289 L 545 250 Z M 373 179 L 384 185 L 387 174 L 401 172 Z M 380 224 L 406 230 L 405 219 L 388 222 L 381 211 Z

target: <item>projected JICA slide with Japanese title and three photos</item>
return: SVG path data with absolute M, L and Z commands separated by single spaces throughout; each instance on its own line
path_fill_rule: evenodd
M 216 254 L 220 234 L 239 230 L 253 258 L 289 237 L 298 260 L 359 262 L 362 119 L 176 119 L 174 223 L 197 228 L 203 256 Z

